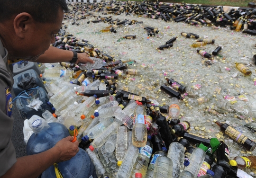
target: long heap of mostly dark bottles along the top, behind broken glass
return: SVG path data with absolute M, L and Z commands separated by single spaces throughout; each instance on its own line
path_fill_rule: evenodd
M 205 26 L 230 26 L 230 29 L 237 32 L 243 31 L 251 35 L 256 35 L 256 9 L 240 8 L 223 10 L 222 6 L 209 7 L 186 3 L 164 3 L 144 0 L 137 1 L 102 1 L 91 3 L 71 3 L 73 12 L 65 14 L 64 19 L 72 19 L 72 24 L 77 24 L 77 20 L 92 16 L 92 12 L 102 14 L 137 15 L 138 17 L 148 17 L 153 19 L 161 18 L 166 22 L 185 22 L 191 25 Z M 100 22 L 101 18 L 93 21 Z M 105 20 L 105 19 L 103 19 Z M 118 22 L 116 22 L 118 23 Z

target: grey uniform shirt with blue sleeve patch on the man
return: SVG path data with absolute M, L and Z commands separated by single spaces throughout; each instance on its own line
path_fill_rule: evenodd
M 17 161 L 11 142 L 13 128 L 12 97 L 13 78 L 8 67 L 8 52 L 0 41 L 0 177 Z

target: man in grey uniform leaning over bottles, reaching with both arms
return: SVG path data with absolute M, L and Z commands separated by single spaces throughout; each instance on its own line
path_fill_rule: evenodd
M 0 0 L 0 178 L 37 178 L 55 162 L 71 159 L 79 150 L 69 136 L 39 154 L 16 158 L 11 142 L 13 79 L 8 62 L 93 62 L 86 53 L 49 47 L 55 42 L 67 11 L 65 0 Z

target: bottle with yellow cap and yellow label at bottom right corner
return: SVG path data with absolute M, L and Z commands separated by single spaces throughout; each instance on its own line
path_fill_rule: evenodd
M 238 169 L 256 168 L 256 156 L 237 156 L 234 160 L 230 160 L 229 163 Z

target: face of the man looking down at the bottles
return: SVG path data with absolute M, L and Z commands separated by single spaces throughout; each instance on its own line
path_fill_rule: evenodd
M 51 43 L 55 42 L 55 34 L 58 33 L 63 21 L 63 10 L 59 9 L 55 23 L 34 23 L 29 29 L 21 49 L 24 59 L 37 60 L 45 53 Z M 26 56 L 26 57 L 25 57 Z

